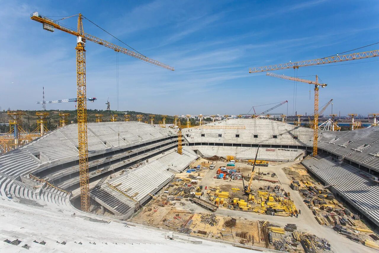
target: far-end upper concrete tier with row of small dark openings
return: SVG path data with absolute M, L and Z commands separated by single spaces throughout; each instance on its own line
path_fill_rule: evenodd
M 313 130 L 270 119 L 228 119 L 206 126 L 239 126 L 246 129 L 183 129 L 189 146 L 239 146 L 263 148 L 304 148 L 311 150 Z

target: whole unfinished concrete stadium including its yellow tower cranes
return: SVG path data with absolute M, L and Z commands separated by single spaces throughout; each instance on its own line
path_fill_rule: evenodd
M 77 28 L 61 23 L 74 16 Z M 23 128 L 26 111 L 6 113 L 10 120 L 2 124 L 9 129 L 0 134 L 4 252 L 379 250 L 379 113 L 364 120 L 355 113 L 323 117 L 333 99 L 319 108 L 319 89 L 327 84 L 318 75 L 271 73 L 377 57 L 379 50 L 249 69 L 311 85 L 308 116 L 296 105 L 292 116 L 272 113 L 287 100 L 266 104 L 273 107 L 262 113 L 255 106 L 234 116 L 168 116 L 110 111 L 108 99 L 105 122 L 103 113 L 88 119 L 86 102 L 97 98 L 86 96 L 86 43 L 116 52 L 117 107 L 119 53 L 163 71 L 174 68 L 85 33 L 88 19 L 74 16 L 30 15 L 44 30 L 75 36 L 77 98 L 47 102 L 43 92 L 32 131 Z M 57 126 L 46 127 L 50 102 L 76 102 L 75 120 L 60 111 Z

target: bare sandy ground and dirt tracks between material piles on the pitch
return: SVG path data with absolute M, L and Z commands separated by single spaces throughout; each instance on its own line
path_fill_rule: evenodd
M 208 163 L 209 162 L 209 163 Z M 220 187 L 222 191 L 230 192 L 231 198 L 243 198 L 247 200 L 247 196 L 243 194 L 243 184 L 241 180 L 223 180 L 223 179 L 215 179 L 213 178 L 216 175 L 216 171 L 219 166 L 225 166 L 226 162 L 222 161 L 208 161 L 206 159 L 198 159 L 196 162 L 191 164 L 191 168 L 197 165 L 201 165 L 201 167 L 209 167 L 211 163 L 215 163 L 216 167 L 214 170 L 210 170 L 208 168 L 204 168 L 200 171 L 186 173 L 186 171 L 177 174 L 177 178 L 188 179 L 189 174 L 196 174 L 197 176 L 197 186 L 202 185 L 202 192 L 204 192 L 204 196 L 201 196 L 203 200 L 207 200 L 205 186 L 207 189 L 209 187 Z M 274 165 L 272 165 L 274 164 Z M 252 165 L 248 165 L 247 163 L 239 163 L 235 164 L 236 170 L 240 170 L 244 176 L 247 174 L 251 174 Z M 293 200 L 296 208 L 301 210 L 301 214 L 298 215 L 298 218 L 295 216 L 291 217 L 281 217 L 281 216 L 271 216 L 266 214 L 258 214 L 256 212 L 251 211 L 241 211 L 241 210 L 231 210 L 227 207 L 223 207 L 219 205 L 219 208 L 215 212 L 210 212 L 202 207 L 191 203 L 188 199 L 183 198 L 182 200 L 169 201 L 167 205 L 160 206 L 158 203 L 167 197 L 167 193 L 162 189 L 158 192 L 155 197 L 150 200 L 143 209 L 137 212 L 134 217 L 131 218 L 132 222 L 141 223 L 144 225 L 150 225 L 154 227 L 169 229 L 173 231 L 179 231 L 181 233 L 190 233 L 196 236 L 204 236 L 213 239 L 221 239 L 227 240 L 231 242 L 243 242 L 248 245 L 254 245 L 257 247 L 266 247 L 265 239 L 262 236 L 262 227 L 259 225 L 258 221 L 267 221 L 272 224 L 280 225 L 284 227 L 286 224 L 296 224 L 298 232 L 305 232 L 310 234 L 315 234 L 320 238 L 327 239 L 331 244 L 332 252 L 377 252 L 376 250 L 366 247 L 360 243 L 349 240 L 345 236 L 338 234 L 336 231 L 332 229 L 332 226 L 329 224 L 320 225 L 315 219 L 315 215 L 313 215 L 311 209 L 304 203 L 304 198 L 298 192 L 298 190 L 292 190 L 290 188 L 290 183 L 292 178 L 295 180 L 304 180 L 304 181 L 312 181 L 315 184 L 318 184 L 315 179 L 307 173 L 306 169 L 299 164 L 298 162 L 270 162 L 268 167 L 255 167 L 256 173 L 258 170 L 263 173 L 269 172 L 269 175 L 261 175 L 262 178 L 266 178 L 269 180 L 276 180 L 278 182 L 271 183 L 268 181 L 252 181 L 252 188 L 259 189 L 259 187 L 270 185 L 274 187 L 275 185 L 279 185 L 285 191 L 290 192 L 291 200 Z M 276 173 L 275 177 L 271 177 L 272 173 Z M 245 181 L 245 184 L 247 182 Z M 302 184 L 302 183 L 301 183 Z M 304 185 L 302 185 L 304 186 Z M 240 191 L 232 192 L 231 188 L 240 188 Z M 196 196 L 198 198 L 198 196 Z M 211 226 L 209 224 L 205 224 L 200 222 L 201 216 L 207 214 L 216 215 L 216 219 L 218 219 L 217 224 Z M 226 226 L 226 222 L 230 222 L 231 218 L 236 220 L 235 226 L 230 228 Z M 192 220 L 191 225 L 184 226 L 189 220 Z M 356 221 L 357 228 L 369 229 L 363 222 L 357 220 Z M 181 230 L 180 230 L 181 229 Z M 201 233 L 199 233 L 199 231 Z M 230 233 L 232 231 L 232 233 Z M 246 237 L 248 239 L 242 239 L 241 237 L 236 236 L 236 233 L 239 232 L 247 232 Z M 202 234 L 204 233 L 204 234 Z M 231 235 L 229 235 L 231 234 Z M 240 234 L 240 233 L 239 233 Z M 367 234 L 366 237 L 369 237 L 369 233 L 360 232 L 360 234 Z M 224 236 L 223 236 L 224 235 Z M 250 235 L 250 240 L 249 236 Z M 253 238 L 254 237 L 254 244 Z M 291 237 L 291 233 L 285 232 L 285 234 L 273 233 L 274 239 L 278 240 L 283 238 Z M 372 240 L 372 239 L 371 239 Z M 249 242 L 247 242 L 249 241 Z M 336 244 L 335 242 L 338 242 Z M 336 247 L 338 245 L 338 248 Z M 287 249 L 290 252 L 304 252 L 303 248 L 300 246 L 292 247 L 288 246 Z M 268 245 L 268 248 L 275 249 L 272 244 Z M 325 251 L 331 252 L 331 251 Z

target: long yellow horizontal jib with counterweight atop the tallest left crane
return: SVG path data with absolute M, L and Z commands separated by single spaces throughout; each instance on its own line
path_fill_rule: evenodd
M 80 34 L 78 31 L 74 31 L 70 28 L 67 28 L 65 25 L 63 24 L 60 24 L 59 22 L 57 21 L 54 21 L 48 17 L 45 17 L 45 16 L 42 16 L 41 14 L 38 14 L 38 12 L 34 12 L 30 15 L 30 18 L 37 21 L 37 22 L 40 22 L 44 25 L 44 29 L 45 30 L 48 30 L 48 31 L 54 31 L 53 28 L 55 29 L 58 29 L 58 30 L 61 30 L 61 31 L 65 31 L 66 33 L 69 33 L 71 35 L 75 35 L 75 36 L 81 36 L 85 39 L 88 39 L 89 41 L 92 41 L 92 42 L 95 42 L 97 44 L 100 44 L 102 46 L 105 46 L 105 47 L 108 47 L 110 49 L 113 49 L 115 50 L 116 52 L 121 52 L 121 53 L 125 53 L 131 57 L 134 57 L 134 58 L 137 58 L 139 60 L 142 60 L 142 61 L 146 61 L 148 63 L 151 63 L 151 64 L 154 64 L 156 66 L 160 66 L 162 68 L 165 68 L 165 69 L 169 69 L 169 70 L 172 70 L 174 71 L 175 69 L 167 64 L 164 64 L 164 63 L 161 63 L 157 60 L 153 60 L 149 57 L 146 57 L 144 55 L 141 55 L 140 53 L 136 53 L 134 51 L 131 51 L 131 50 L 128 50 L 124 47 L 120 47 L 120 46 L 117 46 L 111 42 L 108 42 L 104 39 L 100 39 L 100 38 L 97 38 L 93 35 L 89 35 L 88 33 L 83 33 L 83 34 Z

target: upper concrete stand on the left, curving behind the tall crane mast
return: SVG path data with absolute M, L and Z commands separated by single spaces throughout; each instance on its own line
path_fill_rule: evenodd
M 0 195 L 28 204 L 37 201 L 73 208 L 70 194 L 33 181 L 29 174 L 61 189 L 77 188 L 77 136 L 77 125 L 70 124 L 0 156 Z M 170 129 L 139 122 L 89 123 L 90 182 L 176 145 L 177 134 Z

